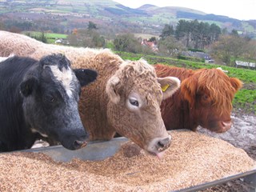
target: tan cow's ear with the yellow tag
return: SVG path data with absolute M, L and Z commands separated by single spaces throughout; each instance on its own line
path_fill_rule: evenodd
M 170 98 L 176 90 L 178 90 L 181 81 L 178 78 L 174 77 L 166 77 L 166 78 L 158 78 L 158 83 L 162 88 L 162 99 Z

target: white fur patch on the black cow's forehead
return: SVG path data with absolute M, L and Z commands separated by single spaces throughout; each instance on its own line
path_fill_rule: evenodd
M 62 82 L 62 86 L 64 86 L 66 90 L 66 94 L 71 97 L 72 96 L 72 90 L 73 87 L 71 86 L 71 82 L 73 80 L 72 76 L 72 70 L 70 67 L 66 70 L 63 68 L 63 70 L 59 70 L 58 66 L 50 66 L 50 70 L 53 72 L 54 77 L 59 81 Z

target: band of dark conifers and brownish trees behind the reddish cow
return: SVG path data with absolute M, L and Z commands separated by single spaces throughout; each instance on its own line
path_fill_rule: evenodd
M 181 19 L 177 26 L 165 25 L 158 41 L 160 52 L 177 56 L 182 50 L 203 51 L 210 54 L 219 64 L 235 66 L 236 60 L 256 63 L 256 40 L 228 32 L 216 24 L 186 21 Z

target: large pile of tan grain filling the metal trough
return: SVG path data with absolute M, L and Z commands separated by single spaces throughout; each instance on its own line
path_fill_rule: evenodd
M 54 162 L 45 154 L 0 154 L 0 191 L 168 191 L 251 170 L 254 160 L 227 142 L 173 131 L 164 157 L 128 142 L 114 157 Z

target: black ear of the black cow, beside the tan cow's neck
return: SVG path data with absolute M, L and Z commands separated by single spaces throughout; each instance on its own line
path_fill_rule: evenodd
M 74 74 L 78 78 L 81 86 L 86 86 L 90 82 L 94 82 L 98 75 L 95 70 L 88 69 L 76 69 L 74 70 Z

